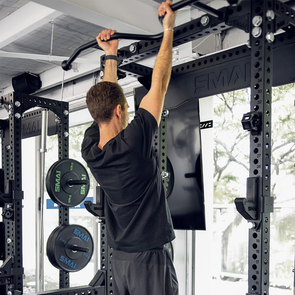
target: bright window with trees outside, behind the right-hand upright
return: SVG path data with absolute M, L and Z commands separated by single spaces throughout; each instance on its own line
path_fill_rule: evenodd
M 290 294 L 293 289 L 295 248 L 295 84 L 272 89 L 270 290 Z M 214 97 L 214 288 L 248 289 L 248 227 L 236 211 L 236 197 L 246 197 L 249 177 L 249 132 L 241 126 L 249 112 L 250 89 Z M 270 291 L 271 292 L 271 291 Z

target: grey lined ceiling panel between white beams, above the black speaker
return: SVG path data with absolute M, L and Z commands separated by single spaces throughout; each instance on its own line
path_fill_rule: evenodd
M 105 28 L 71 16 L 61 15 L 53 23 L 48 22 L 6 45 L 1 50 L 13 53 L 49 55 L 53 34 L 51 55 L 69 57 L 77 47 L 92 41 L 102 29 Z M 93 51 L 96 49 L 90 48 L 83 51 L 81 55 Z M 40 74 L 59 65 L 60 62 L 0 58 L 0 89 L 10 86 L 12 77 L 23 72 Z

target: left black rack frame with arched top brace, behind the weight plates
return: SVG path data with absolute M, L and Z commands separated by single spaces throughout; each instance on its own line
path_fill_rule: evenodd
M 11 92 L 1 96 L 0 105 L 8 112 L 8 119 L 0 120 L 2 169 L 0 170 L 0 294 L 23 294 L 23 238 L 22 238 L 22 137 L 29 137 L 22 124 L 26 111 L 34 107 L 46 108 L 56 114 L 58 122 L 59 159 L 68 158 L 68 103 L 42 97 Z M 39 109 L 40 110 L 40 109 Z M 29 117 L 40 117 L 40 111 Z M 41 124 L 35 124 L 41 132 Z M 36 135 L 34 133 L 34 135 Z M 32 135 L 32 136 L 34 136 Z M 68 208 L 59 208 L 59 224 L 68 223 Z M 69 287 L 68 273 L 60 272 L 60 288 Z

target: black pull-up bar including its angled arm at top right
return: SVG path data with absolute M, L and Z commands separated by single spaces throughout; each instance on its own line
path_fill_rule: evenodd
M 236 0 L 238 1 L 238 0 Z M 203 3 L 198 3 L 198 1 L 196 0 L 182 0 L 179 1 L 173 5 L 171 5 L 171 9 L 173 11 L 176 11 L 184 6 L 187 6 L 191 3 L 194 2 L 194 7 L 199 8 L 200 10 L 205 11 L 206 13 L 213 15 L 214 17 L 218 17 L 218 18 L 222 18 L 223 15 L 221 15 L 222 13 L 212 7 L 209 7 Z M 162 22 L 163 17 L 159 17 L 160 22 Z M 113 40 L 113 39 L 128 39 L 128 40 L 141 40 L 141 41 L 156 41 L 156 40 L 160 40 L 161 38 L 163 38 L 163 32 L 155 34 L 155 35 L 143 35 L 143 34 L 129 34 L 129 33 L 114 33 L 114 35 L 112 35 L 110 37 L 109 40 Z M 82 52 L 83 50 L 86 50 L 90 47 L 93 46 L 97 46 L 97 41 L 96 39 L 94 39 L 93 41 L 89 41 L 88 43 L 85 43 L 84 45 L 78 47 L 74 53 L 70 56 L 70 58 L 68 60 L 64 60 L 61 63 L 61 67 L 63 68 L 63 70 L 68 71 L 72 68 L 72 62 L 77 58 L 77 56 L 80 54 L 80 52 Z

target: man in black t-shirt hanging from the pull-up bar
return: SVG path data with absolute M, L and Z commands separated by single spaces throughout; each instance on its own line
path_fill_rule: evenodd
M 87 94 L 95 122 L 85 132 L 82 156 L 106 193 L 116 295 L 178 295 L 176 272 L 164 247 L 175 234 L 152 148 L 171 75 L 176 17 L 171 4 L 167 0 L 158 9 L 164 36 L 150 90 L 129 125 L 128 104 L 117 81 L 118 40 L 109 40 L 116 31 L 103 30 L 96 38 L 106 64 L 103 81 Z

